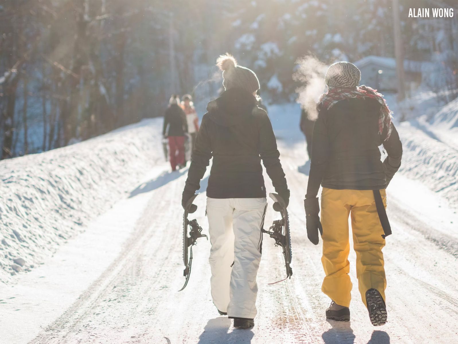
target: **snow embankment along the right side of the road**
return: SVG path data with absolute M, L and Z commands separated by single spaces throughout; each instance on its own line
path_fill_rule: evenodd
M 458 207 L 458 98 L 438 107 L 435 98 L 419 92 L 412 106 L 396 104 L 394 95 L 387 96 L 395 120 L 400 112 L 410 120 L 397 123 L 403 142 L 400 173 L 419 180 L 451 207 Z M 432 100 L 431 100 L 432 99 Z M 407 113 L 406 113 L 407 111 Z

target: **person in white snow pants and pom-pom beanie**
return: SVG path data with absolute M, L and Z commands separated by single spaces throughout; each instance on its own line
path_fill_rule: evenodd
M 213 157 L 207 187 L 210 279 L 219 314 L 235 328 L 254 326 L 256 275 L 267 208 L 261 160 L 275 191 L 289 202 L 277 142 L 266 111 L 257 106 L 259 81 L 231 55 L 220 56 L 225 91 L 208 103 L 197 134 L 182 205 L 195 194 Z

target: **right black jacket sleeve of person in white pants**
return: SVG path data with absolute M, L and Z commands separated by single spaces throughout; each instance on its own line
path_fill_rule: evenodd
M 267 175 L 272 180 L 272 185 L 275 191 L 282 195 L 288 192 L 288 185 L 286 183 L 285 174 L 280 163 L 280 152 L 277 149 L 277 140 L 273 133 L 272 124 L 270 123 L 269 116 L 261 109 L 259 126 L 259 155 L 262 159 L 262 164 L 266 168 Z

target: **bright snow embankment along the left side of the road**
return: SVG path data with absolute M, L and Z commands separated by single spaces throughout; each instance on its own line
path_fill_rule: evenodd
M 0 161 L 0 282 L 53 254 L 164 163 L 160 119 Z

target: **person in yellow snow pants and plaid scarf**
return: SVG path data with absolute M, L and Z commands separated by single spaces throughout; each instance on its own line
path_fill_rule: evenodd
M 350 320 L 351 217 L 361 299 L 377 326 L 387 321 L 382 248 L 391 228 L 385 189 L 401 164 L 402 144 L 382 94 L 358 86 L 360 77 L 360 70 L 349 62 L 337 62 L 326 72 L 328 90 L 317 104 L 304 207 L 309 240 L 317 245 L 318 233 L 323 240 L 322 291 L 331 299 L 326 317 Z M 383 162 L 380 145 L 388 155 Z

